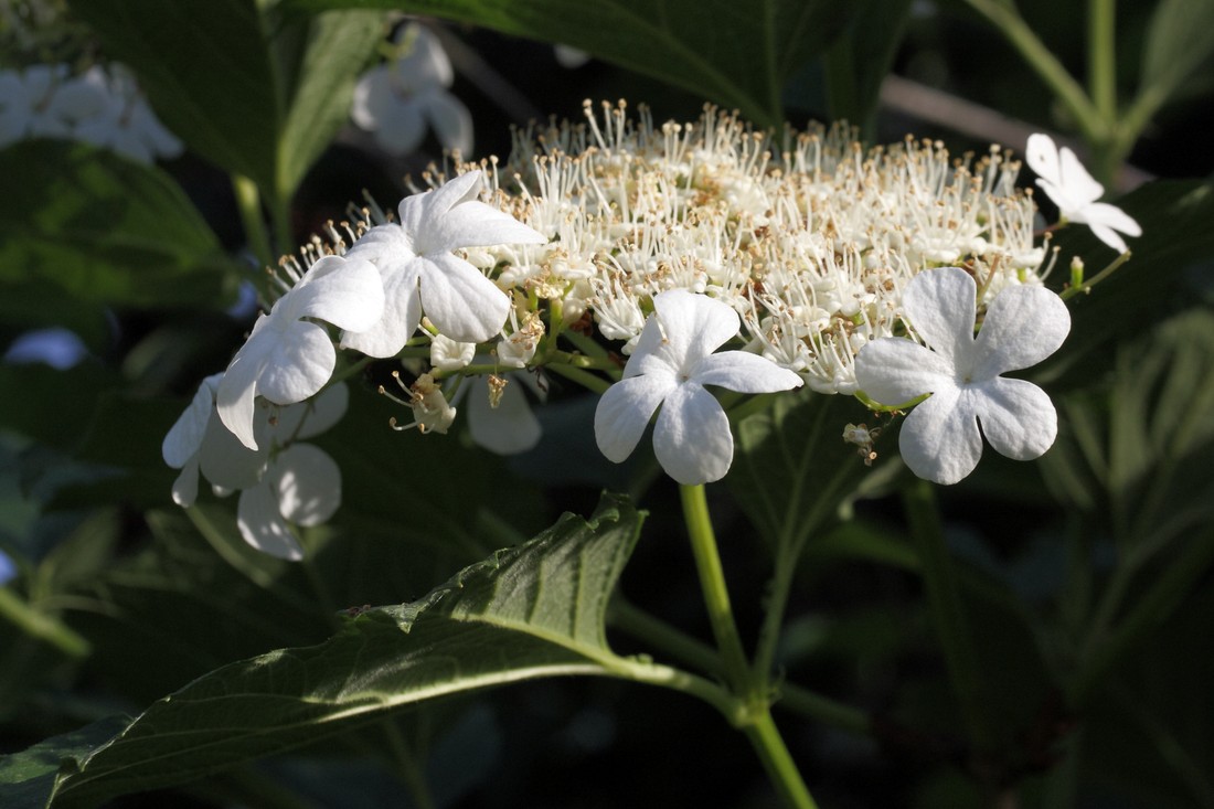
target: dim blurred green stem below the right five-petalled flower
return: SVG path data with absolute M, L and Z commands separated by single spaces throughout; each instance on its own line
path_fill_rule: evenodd
M 944 531 L 936 509 L 931 483 L 915 479 L 903 494 L 910 533 L 923 559 L 923 579 L 927 605 L 944 664 L 957 691 L 961 717 L 976 754 L 986 756 L 998 748 L 998 737 L 983 709 L 982 677 L 974 651 L 974 635 L 961 604 L 960 581 L 944 543 Z

